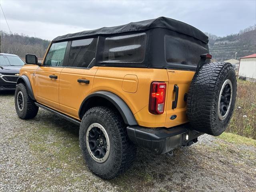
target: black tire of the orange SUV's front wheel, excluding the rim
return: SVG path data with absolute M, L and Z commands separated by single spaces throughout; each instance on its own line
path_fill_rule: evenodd
M 18 109 L 18 102 L 17 102 L 17 95 L 18 92 L 22 92 L 23 94 L 23 109 L 20 111 Z M 35 105 L 34 100 L 32 100 L 28 94 L 28 89 L 25 84 L 20 83 L 16 87 L 15 95 L 14 95 L 14 103 L 15 103 L 15 109 L 16 113 L 21 119 L 32 119 L 34 118 L 38 113 L 38 106 Z

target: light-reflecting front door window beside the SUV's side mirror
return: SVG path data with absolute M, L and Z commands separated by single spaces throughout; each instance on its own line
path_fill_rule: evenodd
M 46 58 L 45 66 L 62 66 L 68 42 L 53 43 Z

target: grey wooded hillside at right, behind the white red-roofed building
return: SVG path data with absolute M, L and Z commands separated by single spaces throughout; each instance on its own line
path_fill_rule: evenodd
M 256 53 L 256 26 L 225 37 L 217 37 L 209 33 L 206 35 L 209 36 L 210 54 L 216 61 L 235 58 L 235 52 L 237 52 L 236 59 Z

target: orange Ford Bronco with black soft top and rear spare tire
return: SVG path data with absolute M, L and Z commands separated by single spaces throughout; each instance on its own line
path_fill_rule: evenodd
M 136 146 L 157 154 L 220 135 L 236 101 L 230 63 L 210 62 L 208 37 L 170 18 L 58 36 L 44 60 L 26 55 L 15 107 L 38 107 L 80 125 L 88 167 L 111 179 L 129 168 Z

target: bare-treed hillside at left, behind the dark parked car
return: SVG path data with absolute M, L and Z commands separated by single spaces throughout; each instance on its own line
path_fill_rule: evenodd
M 49 40 L 28 37 L 24 34 L 8 34 L 1 31 L 1 52 L 16 54 L 22 58 L 27 53 L 35 54 L 38 58 L 44 57 Z

